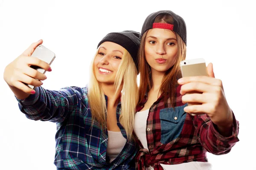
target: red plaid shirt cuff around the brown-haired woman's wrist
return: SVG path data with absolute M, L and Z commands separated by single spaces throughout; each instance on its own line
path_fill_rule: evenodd
M 232 124 L 232 135 L 231 136 L 222 136 L 218 130 L 216 129 L 216 125 L 214 125 L 212 122 L 210 124 L 210 130 L 212 131 L 212 133 L 217 137 L 218 140 L 221 141 L 227 141 L 230 140 L 232 138 L 237 138 L 238 133 L 239 133 L 239 122 L 236 120 L 236 117 L 232 111 L 233 114 L 233 124 Z

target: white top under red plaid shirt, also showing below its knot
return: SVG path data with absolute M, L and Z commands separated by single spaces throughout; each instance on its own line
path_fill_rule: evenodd
M 148 110 L 140 111 L 135 114 L 134 118 L 134 132 L 140 139 L 141 144 L 148 150 L 148 143 L 146 138 L 146 126 L 148 119 Z M 208 162 L 192 161 L 188 163 L 167 165 L 161 164 L 164 170 L 212 170 L 212 164 Z M 154 170 L 153 167 L 148 167 L 147 170 Z

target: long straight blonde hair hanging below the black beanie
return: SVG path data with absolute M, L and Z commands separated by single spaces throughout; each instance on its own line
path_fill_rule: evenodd
M 96 55 L 99 52 L 99 48 L 96 51 Z M 104 129 L 107 127 L 106 115 L 108 115 L 108 113 L 105 95 L 101 88 L 101 83 L 97 81 L 94 74 L 94 59 L 90 66 L 88 102 L 90 105 L 93 121 L 99 122 L 99 124 Z M 128 139 L 132 139 L 132 132 L 134 127 L 134 114 L 138 102 L 139 89 L 137 86 L 137 68 L 131 55 L 127 50 L 125 50 L 125 53 L 122 57 L 122 61 L 117 70 L 114 87 L 116 93 L 120 88 L 122 88 L 122 104 L 119 122 L 124 127 Z

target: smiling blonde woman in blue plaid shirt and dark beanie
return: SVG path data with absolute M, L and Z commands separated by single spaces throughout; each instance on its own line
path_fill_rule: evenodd
M 135 31 L 107 34 L 99 42 L 90 83 L 84 88 L 51 91 L 41 87 L 46 76 L 29 66 L 52 70 L 46 62 L 30 57 L 42 40 L 6 66 L 4 79 L 15 94 L 20 111 L 28 119 L 57 125 L 57 170 L 134 168 L 131 160 L 137 150 L 132 132 L 138 102 L 139 37 Z M 32 90 L 23 83 L 37 88 Z

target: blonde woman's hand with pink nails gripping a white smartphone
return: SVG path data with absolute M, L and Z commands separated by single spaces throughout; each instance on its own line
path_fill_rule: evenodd
M 3 78 L 18 99 L 35 94 L 35 90 L 28 85 L 32 85 L 32 88 L 41 86 L 41 81 L 46 79 L 45 71 L 51 71 L 49 64 L 55 58 L 55 54 L 41 46 L 42 43 L 43 40 L 32 43 L 4 70 Z

